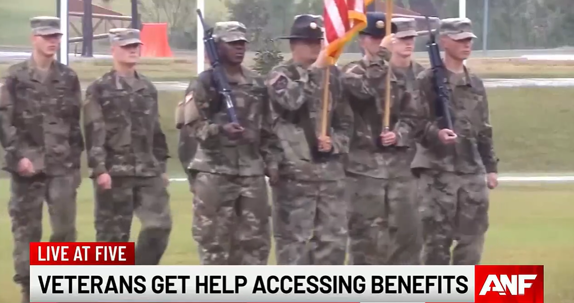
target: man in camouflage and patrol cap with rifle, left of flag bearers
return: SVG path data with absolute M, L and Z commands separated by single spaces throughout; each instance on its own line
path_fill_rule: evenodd
M 277 167 L 278 154 L 267 92 L 263 79 L 242 65 L 245 25 L 217 22 L 214 36 L 239 123 L 230 122 L 214 69 L 200 73 L 187 103 L 192 109 L 186 109 L 186 127 L 199 143 L 189 166 L 193 239 L 202 265 L 266 265 L 271 231 L 265 169 Z

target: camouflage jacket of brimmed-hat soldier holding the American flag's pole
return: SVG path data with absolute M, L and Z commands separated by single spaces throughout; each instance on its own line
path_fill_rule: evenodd
M 292 60 L 273 68 L 267 77 L 273 129 L 281 142 L 281 176 L 296 180 L 329 181 L 344 178 L 344 157 L 352 135 L 353 114 L 337 67 L 330 68 L 328 135 L 332 152 L 316 158 L 325 69 L 304 68 Z M 311 142 L 311 144 L 309 143 Z M 315 156 L 313 156 L 315 155 Z

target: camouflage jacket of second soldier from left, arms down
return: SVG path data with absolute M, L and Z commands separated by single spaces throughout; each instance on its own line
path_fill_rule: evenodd
M 86 91 L 84 133 L 91 177 L 154 177 L 165 172 L 169 158 L 160 127 L 156 87 L 136 73 L 127 83 L 115 71 Z

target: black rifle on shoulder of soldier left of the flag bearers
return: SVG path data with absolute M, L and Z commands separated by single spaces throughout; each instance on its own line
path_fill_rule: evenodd
M 215 86 L 221 95 L 225 105 L 227 107 L 227 114 L 231 119 L 232 123 L 238 123 L 239 120 L 237 119 L 237 115 L 235 114 L 235 98 L 231 95 L 231 87 L 229 86 L 229 81 L 227 80 L 227 76 L 223 71 L 223 67 L 219 61 L 217 45 L 215 44 L 215 39 L 213 37 L 213 28 L 207 28 L 205 26 L 205 21 L 203 20 L 203 15 L 201 14 L 201 10 L 197 9 L 197 16 L 199 16 L 199 20 L 201 21 L 201 26 L 204 29 L 204 37 L 203 37 L 203 44 L 205 45 L 205 52 L 207 53 L 207 57 L 210 60 L 211 68 L 213 71 L 213 78 L 215 81 Z

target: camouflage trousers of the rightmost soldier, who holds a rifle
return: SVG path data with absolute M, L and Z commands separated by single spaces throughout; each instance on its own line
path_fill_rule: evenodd
M 425 170 L 419 190 L 426 265 L 476 265 L 488 229 L 488 189 L 484 174 Z M 456 241 L 456 242 L 455 242 Z

